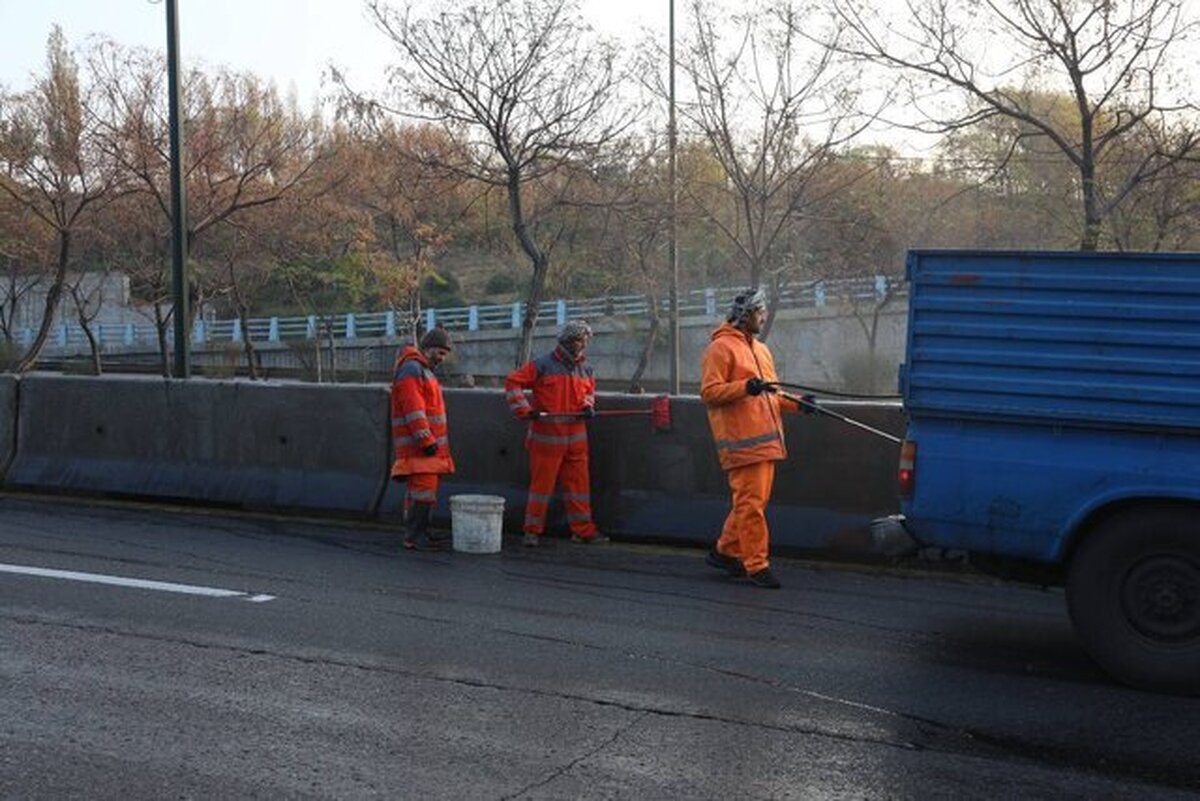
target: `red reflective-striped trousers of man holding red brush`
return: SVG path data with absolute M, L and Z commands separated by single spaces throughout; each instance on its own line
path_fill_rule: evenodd
M 529 445 L 529 499 L 526 501 L 526 534 L 546 529 L 546 511 L 557 484 L 563 487 L 563 506 L 571 534 L 590 537 L 596 532 L 592 522 L 592 488 L 588 477 L 587 440 L 570 445 Z

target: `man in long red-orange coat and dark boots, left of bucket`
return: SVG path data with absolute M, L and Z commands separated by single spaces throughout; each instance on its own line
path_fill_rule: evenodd
M 446 406 L 433 371 L 450 355 L 445 329 L 431 329 L 420 347 L 407 345 L 396 357 L 391 383 L 391 439 L 396 460 L 391 477 L 406 482 L 404 548 L 445 550 L 450 538 L 430 529 L 438 502 L 439 477 L 454 472 Z

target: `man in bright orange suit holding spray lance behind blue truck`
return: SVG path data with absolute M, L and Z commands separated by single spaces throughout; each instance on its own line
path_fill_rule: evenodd
M 700 397 L 716 454 L 730 482 L 732 508 L 706 562 L 755 586 L 779 589 L 768 560 L 767 502 L 775 462 L 787 457 L 781 411 L 798 405 L 776 395 L 775 361 L 757 339 L 767 299 L 750 289 L 733 299 L 727 320 L 713 331 L 701 367 Z

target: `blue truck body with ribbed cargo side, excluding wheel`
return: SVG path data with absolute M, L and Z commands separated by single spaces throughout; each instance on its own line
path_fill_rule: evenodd
M 1056 561 L 1097 508 L 1200 498 L 1200 257 L 916 251 L 907 273 L 918 540 Z

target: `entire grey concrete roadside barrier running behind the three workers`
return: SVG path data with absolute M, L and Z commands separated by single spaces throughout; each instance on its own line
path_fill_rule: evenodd
M 19 389 L 19 403 L 18 403 Z M 458 470 L 443 482 L 436 518 L 452 494 L 502 495 L 505 528 L 524 516 L 526 424 L 499 390 L 446 390 Z M 827 402 L 828 403 L 828 402 Z M 5 486 L 160 498 L 247 508 L 378 514 L 396 520 L 403 484 L 391 464 L 384 385 L 328 386 L 162 378 L 32 375 L 0 379 L 4 421 L 17 406 L 17 446 Z M 602 395 L 601 409 L 648 410 L 649 396 Z M 901 434 L 896 404 L 829 405 Z M 7 411 L 7 414 L 6 414 Z M 709 542 L 728 511 L 703 404 L 671 401 L 672 429 L 648 415 L 589 423 L 596 523 L 632 540 Z M 898 511 L 899 447 L 844 422 L 788 415 L 788 459 L 779 463 L 768 517 L 773 542 L 798 550 L 870 542 L 870 520 Z M 557 518 L 557 519 L 556 519 Z M 559 502 L 551 529 L 564 529 Z

